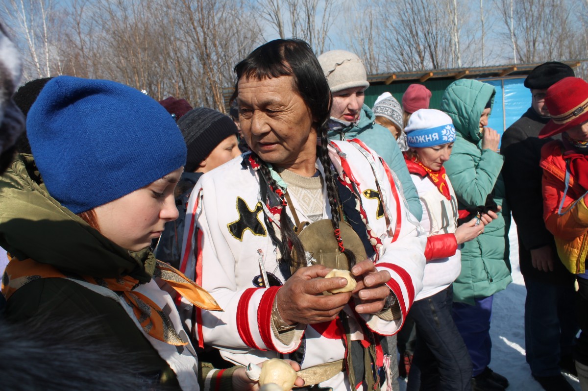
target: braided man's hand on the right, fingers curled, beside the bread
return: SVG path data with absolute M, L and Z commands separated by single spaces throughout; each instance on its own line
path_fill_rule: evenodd
M 390 280 L 390 273 L 387 270 L 378 272 L 376 265 L 370 259 L 362 260 L 351 269 L 351 273 L 358 279 L 358 286 L 354 293 L 361 304 L 355 307 L 358 313 L 378 313 L 386 303 L 390 295 L 390 288 L 386 282 Z

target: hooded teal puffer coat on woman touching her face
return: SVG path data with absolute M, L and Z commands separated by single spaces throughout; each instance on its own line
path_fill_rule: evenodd
M 500 170 L 503 156 L 482 149 L 480 116 L 487 102 L 494 104 L 493 86 L 477 80 L 451 83 L 441 102 L 441 110 L 453 120 L 457 139 L 445 170 L 453 185 L 460 210 L 485 205 L 489 194 L 502 206 L 498 219 L 486 226 L 484 233 L 466 242 L 462 249 L 462 272 L 453 283 L 453 298 L 473 305 L 506 288 L 510 276 L 509 240 L 510 210 L 506 205 L 505 183 Z

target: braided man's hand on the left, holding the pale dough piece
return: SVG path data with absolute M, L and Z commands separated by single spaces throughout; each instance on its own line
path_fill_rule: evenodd
M 349 302 L 351 292 L 323 295 L 325 290 L 347 285 L 347 280 L 343 277 L 318 278 L 325 277 L 330 270 L 322 265 L 313 265 L 296 270 L 286 280 L 276 296 L 278 311 L 286 323 L 309 325 L 336 318 Z

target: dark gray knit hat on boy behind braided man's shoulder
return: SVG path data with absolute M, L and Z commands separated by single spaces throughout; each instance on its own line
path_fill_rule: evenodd
M 238 133 L 229 116 L 213 109 L 198 107 L 182 115 L 178 126 L 188 146 L 185 171 L 192 172 L 221 141 Z

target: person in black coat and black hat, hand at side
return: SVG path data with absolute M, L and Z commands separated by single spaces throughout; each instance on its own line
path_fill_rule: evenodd
M 526 360 L 543 389 L 556 391 L 573 390 L 560 370 L 574 373 L 572 343 L 577 326 L 573 276 L 557 258 L 553 235 L 543 222 L 539 159 L 542 146 L 552 138 L 537 135 L 550 119 L 544 105 L 547 88 L 567 76 L 574 76 L 574 71 L 561 62 L 546 62 L 529 73 L 524 86 L 531 90 L 531 107 L 506 129 L 501 149 L 502 175 L 517 225 L 520 271 L 527 288 Z

